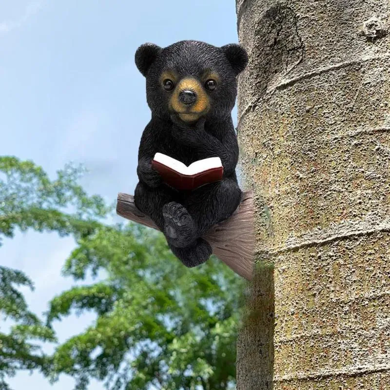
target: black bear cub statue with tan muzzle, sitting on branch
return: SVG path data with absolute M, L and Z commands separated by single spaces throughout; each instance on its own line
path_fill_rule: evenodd
M 139 145 L 135 205 L 164 233 L 176 257 L 194 267 L 212 254 L 202 234 L 231 216 L 241 200 L 231 112 L 237 95 L 236 77 L 246 67 L 248 55 L 235 43 L 216 47 L 182 40 L 165 48 L 144 43 L 138 47 L 135 61 L 146 78 L 152 112 Z M 175 190 L 152 167 L 156 152 L 187 166 L 218 156 L 222 180 L 194 190 Z

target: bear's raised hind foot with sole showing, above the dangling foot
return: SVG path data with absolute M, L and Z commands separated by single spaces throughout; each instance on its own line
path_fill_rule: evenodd
M 170 202 L 163 206 L 164 234 L 172 245 L 186 247 L 196 238 L 196 226 L 187 209 L 177 202 Z

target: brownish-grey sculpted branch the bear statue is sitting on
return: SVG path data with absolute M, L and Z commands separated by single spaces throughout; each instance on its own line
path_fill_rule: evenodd
M 253 193 L 242 194 L 241 203 L 227 220 L 214 225 L 204 236 L 221 261 L 247 280 L 252 279 L 254 261 Z M 155 223 L 134 204 L 134 196 L 119 193 L 117 214 L 159 230 Z

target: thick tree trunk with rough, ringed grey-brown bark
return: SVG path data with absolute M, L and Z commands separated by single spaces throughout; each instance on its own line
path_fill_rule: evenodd
M 238 390 L 390 389 L 390 2 L 237 0 L 257 269 Z

